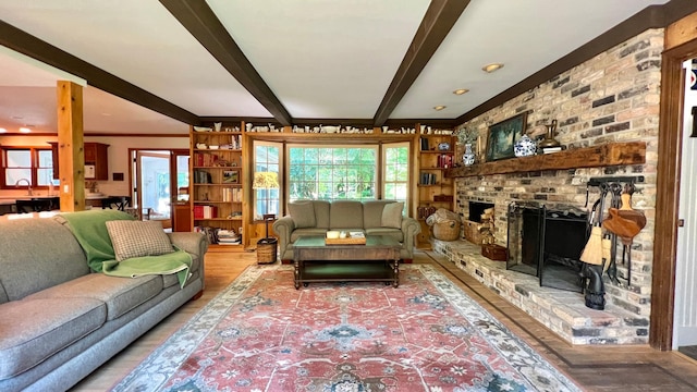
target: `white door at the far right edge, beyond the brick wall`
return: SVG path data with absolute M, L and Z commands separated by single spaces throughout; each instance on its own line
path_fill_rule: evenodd
M 690 89 L 695 84 L 692 82 L 692 61 L 686 61 L 684 66 L 687 77 L 678 218 L 685 223 L 677 231 L 673 350 L 697 345 L 697 137 L 690 137 L 692 108 L 697 107 L 697 89 Z

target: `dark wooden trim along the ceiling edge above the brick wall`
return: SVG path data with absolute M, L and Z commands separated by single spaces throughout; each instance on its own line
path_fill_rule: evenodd
M 694 12 L 697 12 L 697 1 L 694 0 L 671 0 L 662 5 L 649 5 L 505 91 L 462 114 L 455 119 L 454 122 L 455 124 L 463 124 L 649 28 L 664 28 L 669 24 Z

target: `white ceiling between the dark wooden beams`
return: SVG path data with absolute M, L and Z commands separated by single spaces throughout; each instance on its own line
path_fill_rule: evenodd
M 472 0 L 390 119 L 455 119 L 667 1 Z M 372 119 L 429 3 L 207 1 L 294 119 Z M 195 115 L 271 117 L 160 2 L 0 0 L 0 19 Z M 56 81 L 85 81 L 0 49 L 0 127 L 56 132 Z M 188 132 L 86 83 L 85 132 Z

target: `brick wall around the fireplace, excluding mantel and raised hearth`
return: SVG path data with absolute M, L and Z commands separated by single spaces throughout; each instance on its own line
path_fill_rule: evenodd
M 626 279 L 622 279 L 626 277 L 626 268 L 622 266 L 619 248 L 621 284 L 607 281 L 606 299 L 647 318 L 650 314 L 662 50 L 663 29 L 646 30 L 461 125 L 474 126 L 486 135 L 489 125 L 527 111 L 527 134 L 531 137 L 543 136 L 546 124 L 557 120 L 555 138 L 570 149 L 644 140 L 647 144 L 645 164 L 496 174 L 455 181 L 456 212 L 467 217 L 470 200 L 494 204 L 496 241 L 505 246 L 506 209 L 511 201 L 589 209 L 599 195 L 597 188 L 590 188 L 588 207 L 585 207 L 588 179 L 643 175 L 645 182 L 637 184 L 633 207 L 641 210 L 648 222 L 632 246 L 632 282 L 627 285 Z M 609 201 L 610 197 L 606 206 Z

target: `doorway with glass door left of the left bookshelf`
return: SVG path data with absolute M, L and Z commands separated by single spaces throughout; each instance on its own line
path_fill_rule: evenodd
M 133 194 L 144 220 L 167 231 L 191 231 L 188 150 L 133 149 Z

